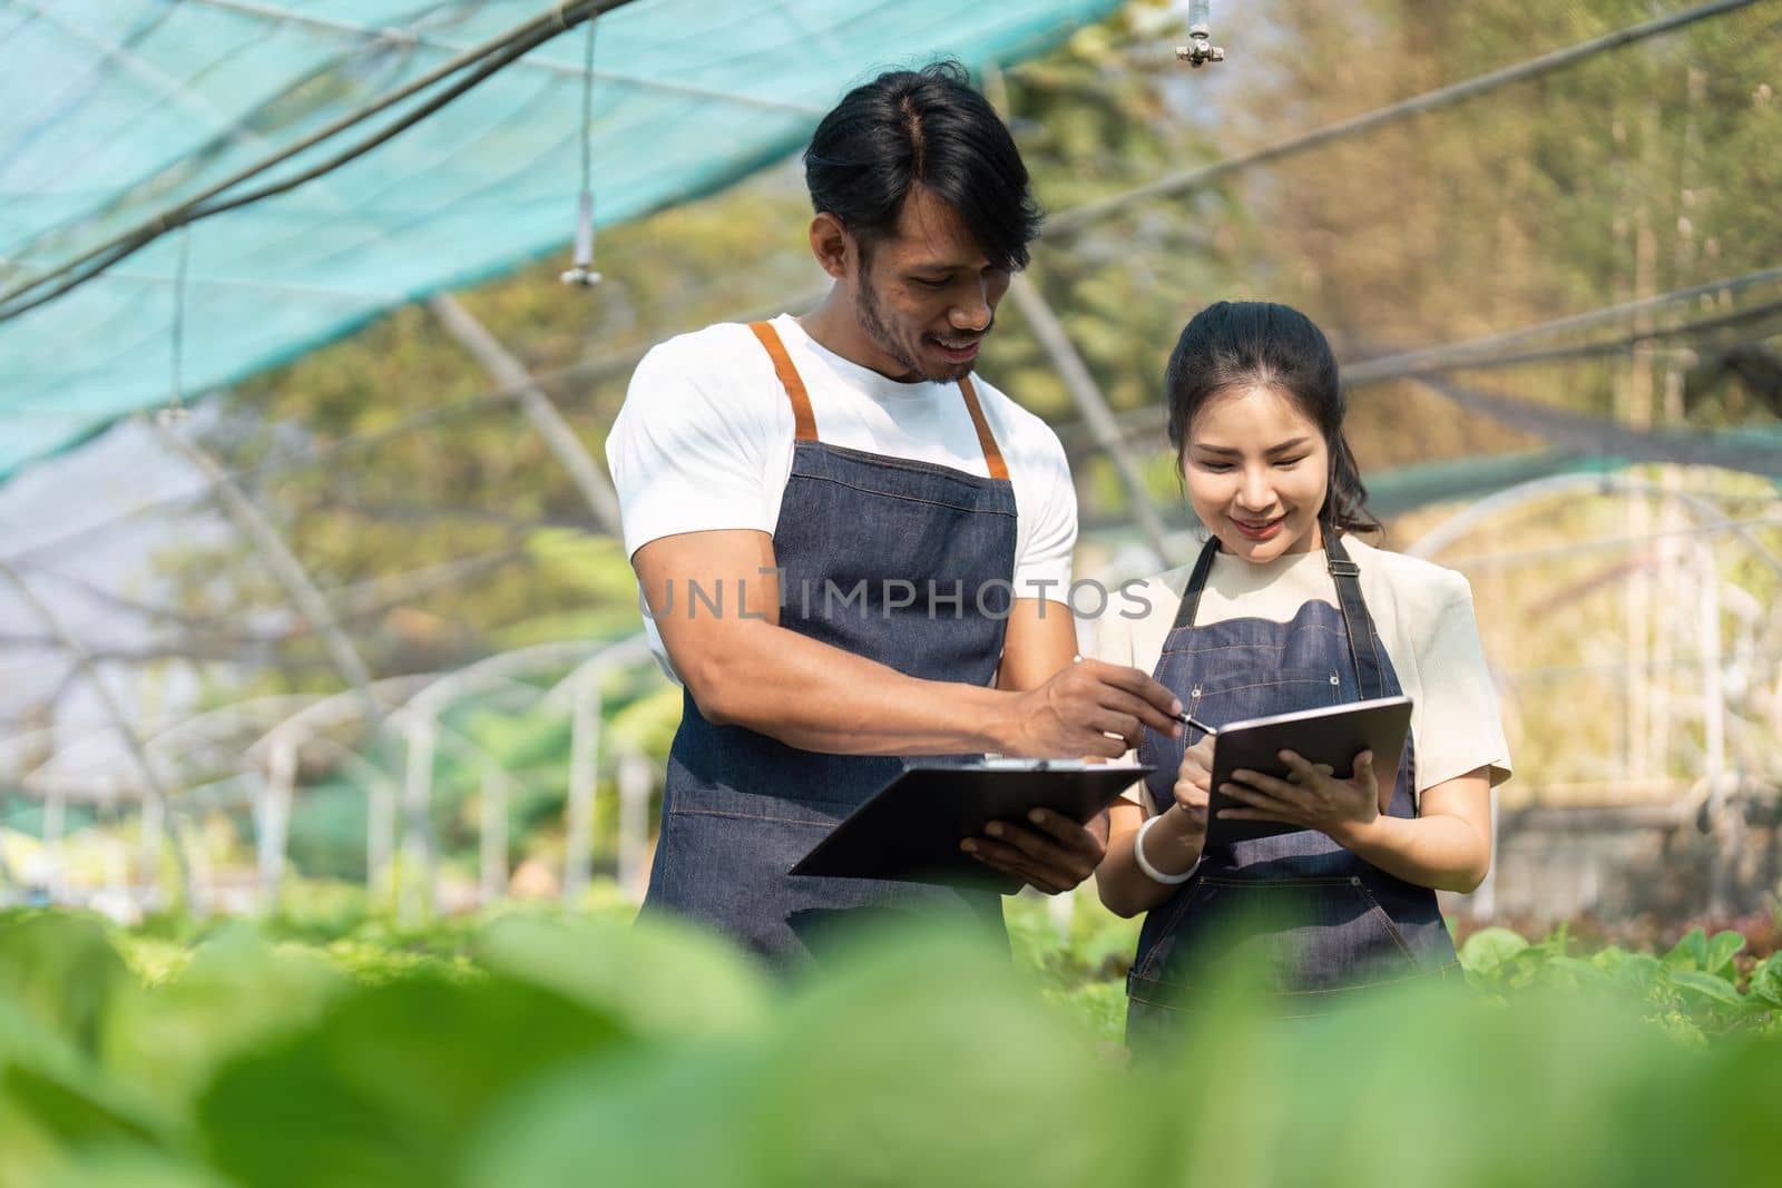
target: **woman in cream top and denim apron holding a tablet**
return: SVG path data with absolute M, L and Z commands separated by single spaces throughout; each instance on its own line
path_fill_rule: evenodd
M 1490 791 L 1509 775 L 1467 581 L 1353 536 L 1379 525 L 1344 440 L 1336 360 L 1303 313 L 1203 310 L 1165 387 L 1181 481 L 1212 538 L 1194 566 L 1133 590 L 1146 613 L 1103 616 L 1101 659 L 1151 670 L 1214 728 L 1401 693 L 1413 712 L 1397 771 L 1376 773 L 1363 752 L 1338 780 L 1285 752 L 1290 780 L 1235 773 L 1222 791 L 1246 807 L 1226 816 L 1301 828 L 1214 848 L 1212 739 L 1146 736 L 1137 757 L 1157 771 L 1112 810 L 1098 869 L 1108 908 L 1146 912 L 1128 1038 L 1192 1010 L 1233 951 L 1288 1015 L 1452 976 L 1435 892 L 1484 878 Z

